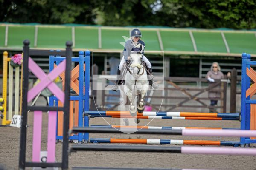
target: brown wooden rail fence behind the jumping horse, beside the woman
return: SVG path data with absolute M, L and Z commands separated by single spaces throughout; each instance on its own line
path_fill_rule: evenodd
M 97 71 L 97 66 L 93 65 L 94 69 L 94 74 L 96 74 Z M 104 71 L 102 72 L 104 74 Z M 212 83 L 208 85 L 207 79 L 203 78 L 196 78 L 196 77 L 165 77 L 165 87 L 164 87 L 164 96 L 157 96 L 153 95 L 150 96 L 148 95 L 145 98 L 145 101 L 148 101 L 148 98 L 151 98 L 152 100 L 156 99 L 163 99 L 163 103 L 152 103 L 152 102 L 146 102 L 146 105 L 151 105 L 154 110 L 158 110 L 158 108 L 161 106 L 164 110 L 160 109 L 160 111 L 172 111 L 177 107 L 182 107 L 182 108 L 208 108 L 212 112 L 222 112 L 226 113 L 227 112 L 227 82 L 230 82 L 230 112 L 231 113 L 236 113 L 236 94 L 238 94 L 236 90 L 236 84 L 237 81 L 237 73 L 236 69 L 234 68 L 232 70 L 230 80 L 228 80 L 226 77 L 222 80 L 217 80 L 215 83 Z M 199 83 L 200 82 L 200 83 Z M 193 87 L 193 86 L 187 86 L 189 84 L 204 84 L 204 86 L 201 87 Z M 93 82 L 94 85 L 96 85 L 96 82 Z M 185 85 L 185 86 L 184 86 Z M 207 86 L 208 85 L 208 86 Z M 216 87 L 219 87 L 217 88 Z M 173 91 L 180 91 L 180 93 L 184 95 L 173 95 Z M 219 98 L 209 98 L 208 96 L 201 96 L 203 93 L 207 93 L 209 91 L 214 91 L 221 93 L 221 97 Z M 96 91 L 92 91 L 93 96 L 95 99 L 95 96 L 97 96 Z M 149 92 L 148 92 L 149 94 Z M 108 101 L 108 97 L 116 97 L 116 101 Z M 92 96 L 91 96 L 92 98 Z M 108 94 L 108 91 L 101 91 L 101 103 L 97 105 L 102 107 L 102 109 L 105 109 L 106 105 L 111 105 L 111 108 L 108 108 L 109 110 L 114 110 L 116 109 L 117 106 L 120 105 L 118 99 L 120 98 L 119 94 Z M 179 99 L 180 101 L 178 103 L 173 103 L 172 100 L 177 100 Z M 220 105 L 214 105 L 211 106 L 209 103 L 210 100 L 218 100 L 220 101 Z M 96 101 L 96 100 L 95 100 Z M 193 103 L 196 104 L 187 104 L 190 101 L 195 101 Z M 199 105 L 198 105 L 199 104 Z M 94 105 L 94 102 L 91 102 L 91 107 Z M 95 106 L 95 105 L 94 105 Z M 218 109 L 218 111 L 217 111 Z

